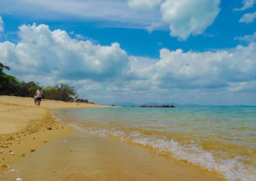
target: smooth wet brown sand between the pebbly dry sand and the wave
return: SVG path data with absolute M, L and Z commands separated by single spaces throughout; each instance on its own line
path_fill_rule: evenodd
M 2 180 L 222 180 L 145 148 L 77 131 L 3 171 Z

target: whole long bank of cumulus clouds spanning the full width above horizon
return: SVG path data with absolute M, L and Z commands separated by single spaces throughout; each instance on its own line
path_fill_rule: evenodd
M 22 25 L 18 35 L 17 44 L 0 43 L 1 62 L 10 66 L 11 74 L 44 85 L 67 82 L 76 86 L 81 96 L 146 100 L 161 94 L 162 100 L 178 99 L 180 92 L 194 96 L 207 96 L 205 92 L 209 90 L 215 90 L 211 93 L 214 95 L 216 91 L 224 92 L 223 95 L 256 92 L 251 85 L 256 80 L 255 34 L 237 37 L 248 45 L 239 45 L 232 51 L 184 52 L 162 48 L 159 59 L 129 56 L 118 43 L 101 46 L 73 39 L 67 32 L 51 31 L 44 24 Z

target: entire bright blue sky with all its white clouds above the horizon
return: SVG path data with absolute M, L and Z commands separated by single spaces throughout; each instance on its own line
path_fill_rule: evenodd
M 0 0 L 0 62 L 95 103 L 256 105 L 256 0 Z

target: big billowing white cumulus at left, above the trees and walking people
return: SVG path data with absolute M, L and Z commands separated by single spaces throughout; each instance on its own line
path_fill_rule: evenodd
M 0 43 L 1 60 L 20 75 L 52 75 L 67 80 L 107 80 L 125 76 L 130 59 L 118 43 L 93 45 L 47 25 L 22 25 L 17 45 Z

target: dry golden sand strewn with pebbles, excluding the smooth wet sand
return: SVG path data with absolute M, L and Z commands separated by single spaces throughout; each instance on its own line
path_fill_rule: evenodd
M 106 106 L 51 100 L 35 106 L 33 98 L 0 96 L 0 166 L 13 164 L 49 141 L 75 132 L 74 127 L 52 117 L 52 110 L 86 107 Z

